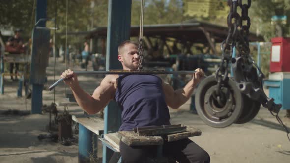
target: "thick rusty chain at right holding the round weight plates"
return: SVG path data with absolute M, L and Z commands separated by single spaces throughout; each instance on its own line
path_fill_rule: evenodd
M 251 19 L 248 15 L 248 10 L 251 7 L 251 0 L 247 0 L 247 4 L 243 4 L 242 0 L 228 0 L 228 5 L 230 6 L 230 13 L 227 18 L 228 24 L 228 36 L 225 41 L 221 44 L 222 50 L 222 61 L 220 67 L 216 71 L 216 79 L 217 79 L 217 90 L 215 92 L 214 97 L 216 98 L 218 103 L 221 103 L 221 85 L 222 83 L 226 83 L 225 81 L 228 79 L 228 65 L 232 58 L 233 48 L 239 52 L 239 56 L 249 56 L 250 55 L 250 46 L 249 46 L 249 29 L 251 27 Z M 237 13 L 237 7 L 241 8 L 241 16 Z M 243 25 L 243 21 L 247 23 Z M 255 65 L 255 62 L 252 60 L 252 63 Z M 257 69 L 261 72 L 259 67 L 256 65 Z M 263 74 L 261 72 L 261 74 Z M 287 138 L 289 138 L 289 131 L 287 127 L 283 124 L 282 120 L 278 116 L 278 113 L 274 115 L 271 111 L 270 113 L 276 117 L 277 121 L 285 128 L 287 132 Z

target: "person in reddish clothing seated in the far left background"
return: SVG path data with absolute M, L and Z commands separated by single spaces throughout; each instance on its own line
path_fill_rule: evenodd
M 21 31 L 22 30 L 20 29 L 16 29 L 14 31 L 14 37 L 10 37 L 8 39 L 6 48 L 9 53 L 13 53 L 13 54 L 24 53 L 24 44 L 23 44 L 22 38 L 20 37 Z M 14 68 L 14 63 L 10 63 L 10 74 L 11 74 L 12 81 L 14 81 L 13 76 L 12 76 L 13 68 Z M 16 74 L 15 79 L 17 79 L 18 69 L 19 69 L 19 63 L 15 63 L 15 74 Z

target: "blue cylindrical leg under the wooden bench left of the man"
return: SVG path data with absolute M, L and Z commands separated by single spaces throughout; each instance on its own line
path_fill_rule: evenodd
M 79 163 L 97 159 L 98 136 L 79 123 Z

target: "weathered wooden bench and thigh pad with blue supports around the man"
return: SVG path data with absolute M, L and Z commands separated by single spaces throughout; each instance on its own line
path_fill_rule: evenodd
M 74 102 L 57 103 L 57 106 L 68 107 L 68 106 L 78 106 L 78 104 Z M 197 128 L 187 126 L 185 127 L 186 130 L 182 130 L 182 132 L 166 135 L 163 134 L 162 136 L 139 136 L 138 134 L 140 134 L 141 132 L 136 133 L 136 131 L 119 131 L 115 133 L 103 134 L 104 121 L 102 118 L 76 117 L 73 115 L 72 120 L 79 123 L 79 162 L 89 161 L 92 159 L 91 158 L 92 156 L 94 158 L 97 158 L 96 157 L 98 148 L 97 139 L 99 139 L 102 142 L 103 146 L 108 147 L 114 152 L 112 157 L 110 158 L 109 163 L 121 163 L 121 155 L 119 147 L 120 141 L 124 142 L 128 146 L 157 145 L 158 158 L 154 158 L 153 160 L 150 161 L 150 163 L 167 162 L 168 158 L 162 157 L 163 156 L 162 147 L 164 141 L 168 142 L 177 141 L 192 136 L 199 136 L 202 133 L 201 130 Z M 169 126 L 180 126 L 180 128 L 184 129 L 184 127 L 181 127 L 181 125 L 169 125 Z M 98 136 L 100 136 L 100 138 L 98 138 Z

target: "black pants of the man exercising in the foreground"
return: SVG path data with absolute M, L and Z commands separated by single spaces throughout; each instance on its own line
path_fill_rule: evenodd
M 120 141 L 120 153 L 124 163 L 145 163 L 146 158 L 156 157 L 157 146 L 127 146 Z M 173 157 L 179 163 L 209 163 L 210 157 L 190 139 L 164 142 L 163 155 Z

